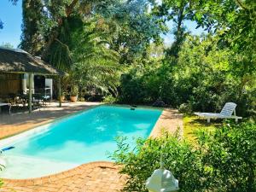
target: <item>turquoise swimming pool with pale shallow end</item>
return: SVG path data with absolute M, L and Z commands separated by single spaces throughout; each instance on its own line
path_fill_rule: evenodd
M 0 141 L 7 166 L 0 177 L 32 178 L 62 172 L 81 164 L 109 160 L 115 138 L 148 137 L 161 110 L 100 106 L 56 120 Z

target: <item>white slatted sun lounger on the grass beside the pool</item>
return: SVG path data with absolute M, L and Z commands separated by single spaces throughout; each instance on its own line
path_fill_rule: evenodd
M 234 113 L 234 115 L 232 115 Z M 241 117 L 236 116 L 236 103 L 226 102 L 224 108 L 220 113 L 195 113 L 196 115 L 207 119 L 207 122 L 210 123 L 211 119 L 241 119 Z

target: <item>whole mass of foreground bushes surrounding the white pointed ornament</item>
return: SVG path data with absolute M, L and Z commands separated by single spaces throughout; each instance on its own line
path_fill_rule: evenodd
M 159 168 L 161 152 L 166 169 L 179 180 L 181 192 L 254 191 L 255 142 L 255 124 L 224 125 L 216 131 L 201 131 L 196 149 L 168 134 L 139 139 L 132 151 L 119 139 L 113 160 L 123 164 L 121 173 L 129 176 L 125 191 L 148 191 L 145 181 Z

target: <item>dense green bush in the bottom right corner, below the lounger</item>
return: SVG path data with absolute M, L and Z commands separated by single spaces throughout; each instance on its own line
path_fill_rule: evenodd
M 214 134 L 201 132 L 198 140 L 206 150 L 203 163 L 212 166 L 223 191 L 254 191 L 256 189 L 256 125 L 225 125 Z M 224 173 L 222 173 L 224 172 Z

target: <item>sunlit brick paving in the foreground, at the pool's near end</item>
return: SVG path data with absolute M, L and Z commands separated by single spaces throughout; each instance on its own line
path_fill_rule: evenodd
M 93 162 L 73 170 L 35 179 L 3 179 L 1 192 L 108 192 L 120 191 L 125 176 L 110 162 Z

